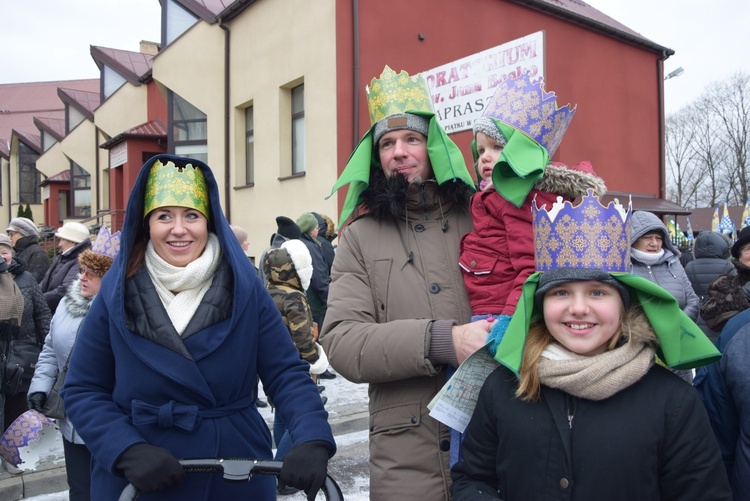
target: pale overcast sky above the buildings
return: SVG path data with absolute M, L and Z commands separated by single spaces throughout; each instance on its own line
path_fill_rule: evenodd
M 314 1 L 314 0 L 310 0 Z M 4 0 L 0 83 L 97 78 L 89 46 L 139 50 L 159 41 L 159 0 Z M 665 109 L 677 111 L 712 82 L 750 73 L 748 0 L 588 0 L 594 8 L 675 51 L 664 71 Z M 279 25 L 283 28 L 283 23 Z

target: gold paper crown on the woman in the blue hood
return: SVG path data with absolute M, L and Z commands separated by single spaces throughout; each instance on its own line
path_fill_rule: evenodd
M 146 181 L 143 218 L 159 207 L 188 207 L 208 217 L 208 187 L 200 168 L 193 164 L 166 165 L 156 160 Z

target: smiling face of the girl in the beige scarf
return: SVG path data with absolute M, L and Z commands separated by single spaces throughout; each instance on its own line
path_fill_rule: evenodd
M 622 298 L 617 288 L 588 280 L 567 282 L 544 294 L 544 323 L 552 337 L 578 355 L 598 355 L 620 329 Z

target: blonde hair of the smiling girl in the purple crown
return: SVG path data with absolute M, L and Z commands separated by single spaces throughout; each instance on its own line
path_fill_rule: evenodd
M 620 318 L 620 327 L 607 343 L 607 350 L 610 351 L 627 343 L 633 338 L 650 339 L 648 333 L 641 332 L 651 329 L 646 314 L 643 312 L 641 305 L 634 301 L 627 310 L 624 310 Z M 516 397 L 526 402 L 535 402 L 539 400 L 541 394 L 541 383 L 539 381 L 539 359 L 545 348 L 555 342 L 555 338 L 550 334 L 544 320 L 537 320 L 529 327 L 526 334 L 526 341 L 523 345 L 523 358 L 521 367 L 518 370 L 518 388 L 516 388 Z

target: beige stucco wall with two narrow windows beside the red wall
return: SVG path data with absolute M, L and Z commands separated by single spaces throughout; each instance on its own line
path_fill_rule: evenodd
M 231 186 L 242 187 L 232 193 L 231 222 L 247 230 L 248 254 L 261 265 L 257 259 L 276 230 L 276 216 L 297 219 L 315 211 L 337 221 L 336 198 L 325 200 L 336 180 L 335 2 L 257 2 L 229 29 Z M 300 83 L 305 85 L 306 174 L 279 180 L 291 173 L 289 89 Z M 248 103 L 254 113 L 255 184 L 246 188 Z

